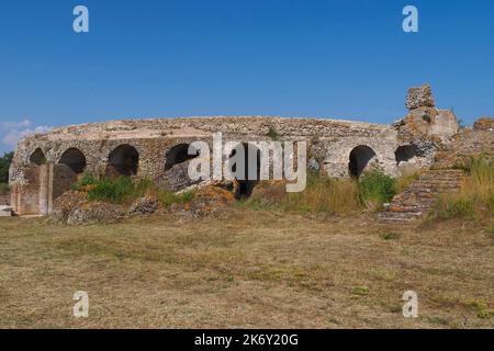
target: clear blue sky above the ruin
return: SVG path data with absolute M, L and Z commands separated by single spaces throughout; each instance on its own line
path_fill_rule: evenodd
M 72 9 L 90 33 L 72 31 Z M 402 10 L 419 32 L 402 31 Z M 494 114 L 494 1 L 44 0 L 0 5 L 0 151 L 32 131 L 184 115 L 390 123 L 429 82 Z

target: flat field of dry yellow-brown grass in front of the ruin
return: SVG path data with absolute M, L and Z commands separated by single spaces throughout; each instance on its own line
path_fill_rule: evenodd
M 417 318 L 403 317 L 409 290 Z M 72 315 L 76 291 L 88 318 Z M 1 328 L 493 328 L 492 308 L 481 224 L 245 208 L 77 227 L 0 218 Z

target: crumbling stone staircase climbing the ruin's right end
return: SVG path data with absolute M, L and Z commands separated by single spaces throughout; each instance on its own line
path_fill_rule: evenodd
M 459 191 L 463 170 L 426 170 L 378 215 L 380 222 L 409 222 L 425 215 L 439 194 Z

